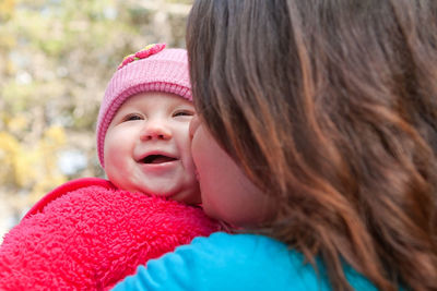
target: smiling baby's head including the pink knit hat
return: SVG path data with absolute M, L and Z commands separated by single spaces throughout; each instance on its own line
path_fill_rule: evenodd
M 194 107 L 186 52 L 160 52 L 163 48 L 129 56 L 109 83 L 98 114 L 98 157 L 120 189 L 199 204 L 188 135 Z

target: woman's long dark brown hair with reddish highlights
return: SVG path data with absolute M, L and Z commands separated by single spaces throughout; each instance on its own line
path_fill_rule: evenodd
M 197 110 L 335 290 L 437 290 L 436 34 L 435 0 L 194 1 Z

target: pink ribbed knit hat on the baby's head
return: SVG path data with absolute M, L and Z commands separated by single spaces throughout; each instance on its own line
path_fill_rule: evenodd
M 110 80 L 97 119 L 97 153 L 103 168 L 106 131 L 129 97 L 143 92 L 164 92 L 192 101 L 187 51 L 164 48 L 164 44 L 150 45 L 126 57 Z

